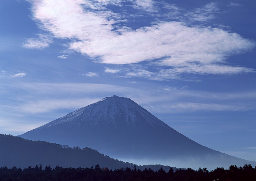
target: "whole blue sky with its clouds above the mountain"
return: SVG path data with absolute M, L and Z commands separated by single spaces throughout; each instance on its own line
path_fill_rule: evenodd
M 1 0 L 0 133 L 128 97 L 256 161 L 256 2 Z

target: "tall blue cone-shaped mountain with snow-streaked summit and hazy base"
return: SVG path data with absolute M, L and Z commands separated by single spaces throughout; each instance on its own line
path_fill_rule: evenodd
M 256 163 L 200 145 L 131 99 L 118 96 L 82 107 L 20 137 L 91 147 L 111 157 L 134 160 L 135 164 L 214 169 Z

